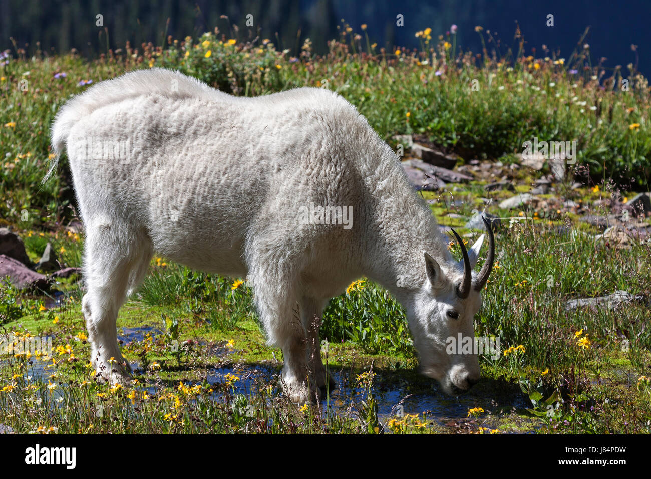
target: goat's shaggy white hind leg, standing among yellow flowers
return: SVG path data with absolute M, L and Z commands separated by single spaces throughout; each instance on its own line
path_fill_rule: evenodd
M 96 372 L 111 383 L 125 383 L 131 373 L 117 343 L 117 316 L 126 300 L 133 269 L 146 244 L 139 235 L 115 224 L 88 227 L 84 257 L 87 288 L 81 303 Z

